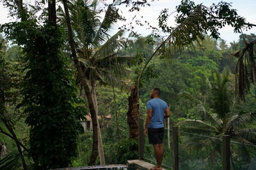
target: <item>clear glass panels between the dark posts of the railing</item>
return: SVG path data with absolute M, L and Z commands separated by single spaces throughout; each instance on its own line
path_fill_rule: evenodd
M 179 169 L 223 169 L 223 138 L 179 131 Z M 173 130 L 164 129 L 163 166 L 173 169 Z M 144 159 L 156 164 L 153 146 L 145 138 Z M 230 169 L 256 169 L 256 146 L 230 141 Z

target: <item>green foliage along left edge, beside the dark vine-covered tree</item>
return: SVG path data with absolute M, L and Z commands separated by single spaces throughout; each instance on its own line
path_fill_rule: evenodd
M 6 159 L 1 160 L 0 169 L 17 168 L 21 166 L 21 162 L 26 168 L 22 149 L 27 153 L 28 149 L 22 143 L 28 137 L 28 133 L 26 125 L 20 121 L 24 120 L 22 111 L 16 107 L 20 101 L 19 82 L 22 75 L 19 72 L 20 66 L 15 66 L 10 61 L 6 62 L 8 45 L 1 37 L 0 39 L 0 153 L 6 155 Z M 16 133 L 17 131 L 19 133 Z M 6 152 L 6 147 L 12 149 Z

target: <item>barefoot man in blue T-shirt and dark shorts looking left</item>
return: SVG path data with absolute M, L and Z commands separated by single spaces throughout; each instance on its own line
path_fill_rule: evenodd
M 160 89 L 155 88 L 150 93 L 151 100 L 147 102 L 147 120 L 144 135 L 148 133 L 148 141 L 154 146 L 157 166 L 152 169 L 162 169 L 164 155 L 164 118 L 170 117 L 170 110 L 165 101 L 159 98 Z

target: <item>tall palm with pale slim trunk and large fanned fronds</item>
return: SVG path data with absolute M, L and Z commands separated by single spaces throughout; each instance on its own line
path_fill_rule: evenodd
M 122 55 L 122 53 L 125 48 L 132 45 L 134 41 L 132 37 L 136 34 L 131 33 L 129 38 L 122 38 L 124 31 L 120 30 L 113 36 L 109 36 L 111 25 L 121 17 L 118 15 L 118 11 L 113 8 L 113 4 L 110 4 L 102 22 L 100 22 L 97 5 L 97 1 L 77 0 L 68 3 L 70 24 L 74 30 L 77 62 L 81 67 L 80 73 L 77 71 L 77 77 L 81 87 L 87 86 L 87 90 L 84 89 L 86 99 L 88 103 L 92 103 L 89 104 L 89 110 L 93 121 L 93 159 L 91 157 L 89 164 L 94 164 L 96 146 L 99 145 L 100 164 L 103 165 L 105 164 L 104 151 L 99 120 L 97 119 L 97 85 L 127 87 L 122 78 L 130 73 L 127 64 L 131 63 L 132 57 Z M 61 9 L 59 11 L 60 15 L 64 14 Z M 67 12 L 65 13 L 67 17 Z M 83 78 L 87 83 L 83 83 Z M 92 101 L 90 101 L 91 99 Z

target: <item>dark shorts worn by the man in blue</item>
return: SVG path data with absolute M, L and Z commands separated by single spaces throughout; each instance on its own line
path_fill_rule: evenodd
M 157 144 L 163 143 L 164 139 L 164 128 L 150 128 L 148 127 L 148 143 L 150 144 Z

